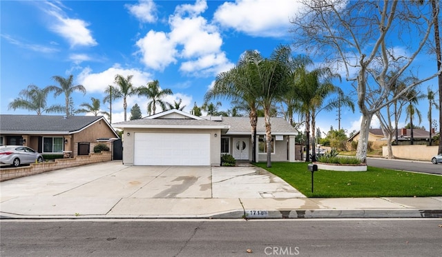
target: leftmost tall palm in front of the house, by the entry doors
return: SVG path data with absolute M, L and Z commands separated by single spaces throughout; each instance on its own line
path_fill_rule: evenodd
M 206 92 L 206 103 L 214 98 L 231 99 L 232 103 L 240 103 L 242 110 L 249 113 L 251 125 L 252 162 L 256 163 L 256 125 L 258 123 L 258 83 L 256 69 L 251 65 L 253 59 L 260 58 L 257 51 L 248 50 L 242 54 L 234 68 L 216 76 L 215 85 Z

